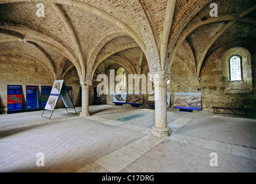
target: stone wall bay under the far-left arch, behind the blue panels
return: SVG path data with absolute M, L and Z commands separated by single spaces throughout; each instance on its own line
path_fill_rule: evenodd
M 41 86 L 53 85 L 53 79 L 42 64 L 24 56 L 0 56 L 0 71 L 0 114 L 7 112 L 7 85 L 22 85 L 24 112 L 26 85 L 39 86 L 39 97 Z

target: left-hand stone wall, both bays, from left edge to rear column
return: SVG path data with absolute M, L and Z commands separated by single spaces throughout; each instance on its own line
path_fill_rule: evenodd
M 41 104 L 41 86 L 52 86 L 50 77 L 42 64 L 27 57 L 0 56 L 0 114 L 7 112 L 7 85 L 22 85 L 23 87 L 23 112 L 26 111 L 26 85 L 39 86 L 39 107 Z M 64 76 L 66 86 L 72 87 L 72 99 L 74 106 L 81 106 L 80 83 L 76 68 L 73 67 Z M 62 108 L 60 100 L 56 108 Z

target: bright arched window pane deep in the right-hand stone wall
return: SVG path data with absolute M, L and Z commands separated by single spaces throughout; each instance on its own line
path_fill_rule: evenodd
M 242 64 L 239 55 L 231 56 L 229 59 L 230 81 L 242 80 Z

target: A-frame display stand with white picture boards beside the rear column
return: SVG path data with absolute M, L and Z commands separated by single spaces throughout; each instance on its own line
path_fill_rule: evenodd
M 52 115 L 55 109 L 55 106 L 58 102 L 58 99 L 60 99 L 60 97 L 62 99 L 62 102 L 65 105 L 66 112 L 68 112 L 67 108 L 72 108 L 76 112 L 75 106 L 73 105 L 71 98 L 68 95 L 68 91 L 66 90 L 64 80 L 58 80 L 58 81 L 54 81 L 53 88 L 51 89 L 51 93 L 46 103 L 46 106 L 44 107 L 43 113 L 45 110 L 50 110 Z M 43 113 L 41 116 L 43 116 Z M 75 114 L 77 114 L 77 112 Z M 50 117 L 46 117 L 46 116 L 43 116 L 43 117 L 50 119 L 51 115 Z

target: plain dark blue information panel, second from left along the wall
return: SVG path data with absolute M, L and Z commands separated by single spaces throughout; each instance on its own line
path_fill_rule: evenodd
M 38 86 L 26 86 L 27 110 L 39 109 Z

